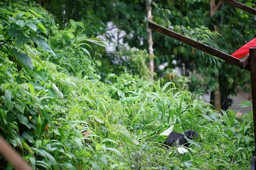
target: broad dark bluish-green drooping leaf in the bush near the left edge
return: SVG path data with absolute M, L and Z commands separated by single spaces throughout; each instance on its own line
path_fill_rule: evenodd
M 30 74 L 32 74 L 33 64 L 31 58 L 27 56 L 27 54 L 20 53 L 16 50 L 12 51 L 15 55 L 15 59 L 17 62 Z

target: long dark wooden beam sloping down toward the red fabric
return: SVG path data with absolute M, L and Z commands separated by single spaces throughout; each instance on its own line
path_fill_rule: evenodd
M 165 34 L 167 35 L 168 37 L 172 37 L 174 38 L 175 40 L 178 40 L 180 42 L 183 42 L 187 45 L 190 45 L 194 48 L 197 48 L 205 53 L 208 53 L 208 54 L 211 54 L 215 57 L 218 57 L 220 59 L 223 59 L 225 62 L 229 63 L 229 64 L 234 64 L 234 65 L 237 65 L 237 66 L 241 66 L 241 68 L 245 68 L 247 69 L 247 65 L 246 63 L 244 63 L 244 61 L 241 61 L 240 59 L 236 58 L 236 57 L 233 57 L 229 54 L 226 54 L 222 51 L 219 51 L 215 48 L 211 48 L 209 47 L 208 45 L 205 45 L 201 42 L 198 42 L 198 41 L 195 41 L 195 40 L 192 40 L 184 35 L 181 35 L 175 31 L 172 31 L 172 30 L 169 30 L 167 28 L 164 28 L 163 26 L 160 26 L 156 23 L 152 23 L 151 21 L 148 21 L 148 28 L 154 30 L 154 31 L 157 31 L 157 32 L 160 32 L 162 34 Z M 249 70 L 249 69 L 247 69 Z

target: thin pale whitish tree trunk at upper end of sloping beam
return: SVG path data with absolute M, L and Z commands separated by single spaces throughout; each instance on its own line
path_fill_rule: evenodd
M 146 4 L 147 9 L 147 20 L 149 21 L 151 19 L 151 0 L 147 0 Z M 151 72 L 151 79 L 154 79 L 154 50 L 153 50 L 153 39 L 152 39 L 152 31 L 151 29 L 147 28 L 148 31 L 148 54 L 150 56 L 149 61 L 149 69 Z

